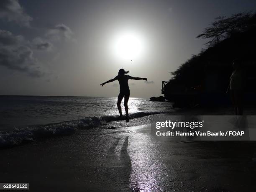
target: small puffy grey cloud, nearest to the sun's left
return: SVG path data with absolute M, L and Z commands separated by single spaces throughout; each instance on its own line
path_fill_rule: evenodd
M 47 31 L 46 36 L 50 37 L 55 41 L 61 41 L 61 40 L 75 41 L 74 32 L 64 24 L 58 24 L 53 28 L 50 28 Z

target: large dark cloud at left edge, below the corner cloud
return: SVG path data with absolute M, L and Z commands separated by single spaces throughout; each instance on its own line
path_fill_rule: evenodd
M 0 30 L 0 65 L 30 77 L 42 77 L 46 74 L 23 36 L 14 36 L 10 31 Z

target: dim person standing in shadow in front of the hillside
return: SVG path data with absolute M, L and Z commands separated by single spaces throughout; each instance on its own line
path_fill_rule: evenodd
M 232 103 L 235 108 L 235 115 L 243 115 L 243 94 L 244 94 L 244 72 L 241 62 L 238 60 L 233 61 L 233 73 L 230 77 L 230 83 L 228 85 L 228 91 Z

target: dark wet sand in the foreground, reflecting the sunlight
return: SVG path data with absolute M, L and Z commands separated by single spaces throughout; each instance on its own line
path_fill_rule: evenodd
M 252 141 L 156 141 L 149 124 L 93 128 L 1 149 L 0 180 L 42 192 L 253 191 L 255 147 Z

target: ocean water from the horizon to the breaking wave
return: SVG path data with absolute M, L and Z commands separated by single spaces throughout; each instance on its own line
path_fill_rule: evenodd
M 118 121 L 117 97 L 0 96 L 0 147 Z M 123 115 L 125 110 L 121 103 Z M 131 118 L 168 113 L 170 102 L 131 97 Z

